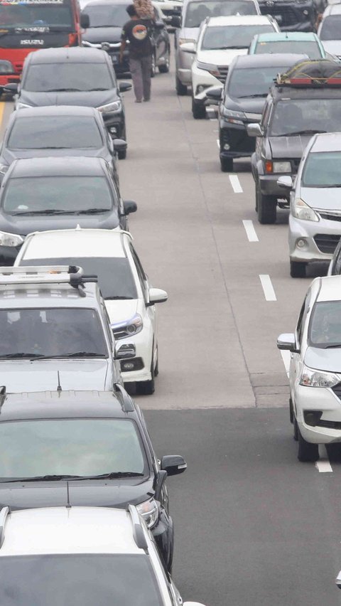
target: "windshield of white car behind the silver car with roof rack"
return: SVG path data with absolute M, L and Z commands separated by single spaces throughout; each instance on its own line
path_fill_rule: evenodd
M 31 259 L 30 250 L 20 265 L 76 265 L 85 274 L 97 275 L 104 299 L 137 299 L 134 277 L 126 257 L 53 257 Z

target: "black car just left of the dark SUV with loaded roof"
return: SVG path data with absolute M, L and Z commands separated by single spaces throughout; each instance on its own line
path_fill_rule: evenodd
M 245 55 L 234 58 L 219 107 L 220 166 L 233 170 L 233 159 L 251 156 L 255 139 L 247 134 L 249 122 L 260 121 L 274 78 L 305 55 Z M 216 91 L 216 92 L 215 92 Z M 210 95 L 220 94 L 213 89 Z

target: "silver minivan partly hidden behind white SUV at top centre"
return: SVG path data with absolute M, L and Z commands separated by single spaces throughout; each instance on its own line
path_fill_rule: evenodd
M 181 26 L 175 31 L 175 88 L 178 95 L 187 94 L 194 58 L 193 54 L 181 50 L 181 46 L 197 41 L 200 24 L 206 17 L 260 14 L 257 0 L 184 0 Z

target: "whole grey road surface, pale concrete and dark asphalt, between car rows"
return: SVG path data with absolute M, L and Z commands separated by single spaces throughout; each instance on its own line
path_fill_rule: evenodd
M 125 103 L 121 192 L 139 205 L 129 223 L 144 267 L 169 295 L 156 393 L 137 400 L 158 454 L 188 462 L 168 479 L 175 583 L 207 606 L 341 605 L 340 452 L 296 459 L 276 349 L 318 270 L 289 276 L 288 211 L 258 224 L 249 161 L 220 171 L 217 121 L 193 119 L 173 70 L 154 78 L 150 103 L 132 92 Z M 0 103 L 1 130 L 12 107 Z

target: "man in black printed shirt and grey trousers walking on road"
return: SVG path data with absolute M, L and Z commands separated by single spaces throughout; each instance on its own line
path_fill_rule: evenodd
M 134 4 L 126 8 L 130 21 L 123 26 L 121 33 L 121 48 L 119 61 L 123 58 L 126 41 L 129 41 L 129 67 L 133 79 L 136 103 L 151 100 L 151 60 L 153 44 L 151 42 L 151 28 L 153 21 L 140 18 L 136 13 Z

